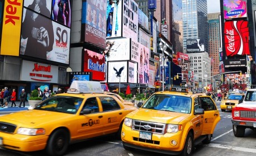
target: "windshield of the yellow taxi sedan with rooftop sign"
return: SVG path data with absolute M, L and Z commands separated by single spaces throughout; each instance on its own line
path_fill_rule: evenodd
M 55 111 L 60 113 L 76 114 L 83 98 L 70 96 L 53 96 L 42 101 L 35 110 Z

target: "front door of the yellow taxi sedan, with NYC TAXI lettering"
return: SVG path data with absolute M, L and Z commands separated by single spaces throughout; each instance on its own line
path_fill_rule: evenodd
M 83 109 L 91 109 L 90 114 L 79 115 L 77 133 L 79 139 L 92 138 L 103 134 L 103 112 L 99 109 L 96 97 L 86 100 Z M 82 109 L 82 110 L 83 110 Z

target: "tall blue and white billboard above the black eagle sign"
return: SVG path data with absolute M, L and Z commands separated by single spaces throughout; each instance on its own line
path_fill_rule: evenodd
M 107 1 L 107 25 L 106 36 L 108 37 L 121 37 L 122 36 L 122 0 Z

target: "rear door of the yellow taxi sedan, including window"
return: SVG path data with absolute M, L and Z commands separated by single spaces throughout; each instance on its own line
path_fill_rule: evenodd
M 99 100 L 104 113 L 103 130 L 106 134 L 117 132 L 124 117 L 124 110 L 113 97 L 102 96 Z

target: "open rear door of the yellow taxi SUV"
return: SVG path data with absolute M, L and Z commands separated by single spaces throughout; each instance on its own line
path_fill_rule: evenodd
M 212 101 L 211 97 L 208 96 L 201 96 L 201 105 L 202 108 L 205 110 L 204 120 L 203 120 L 203 133 L 205 134 L 212 134 L 214 133 L 215 126 L 220 121 L 220 113 L 217 109 L 214 101 Z

